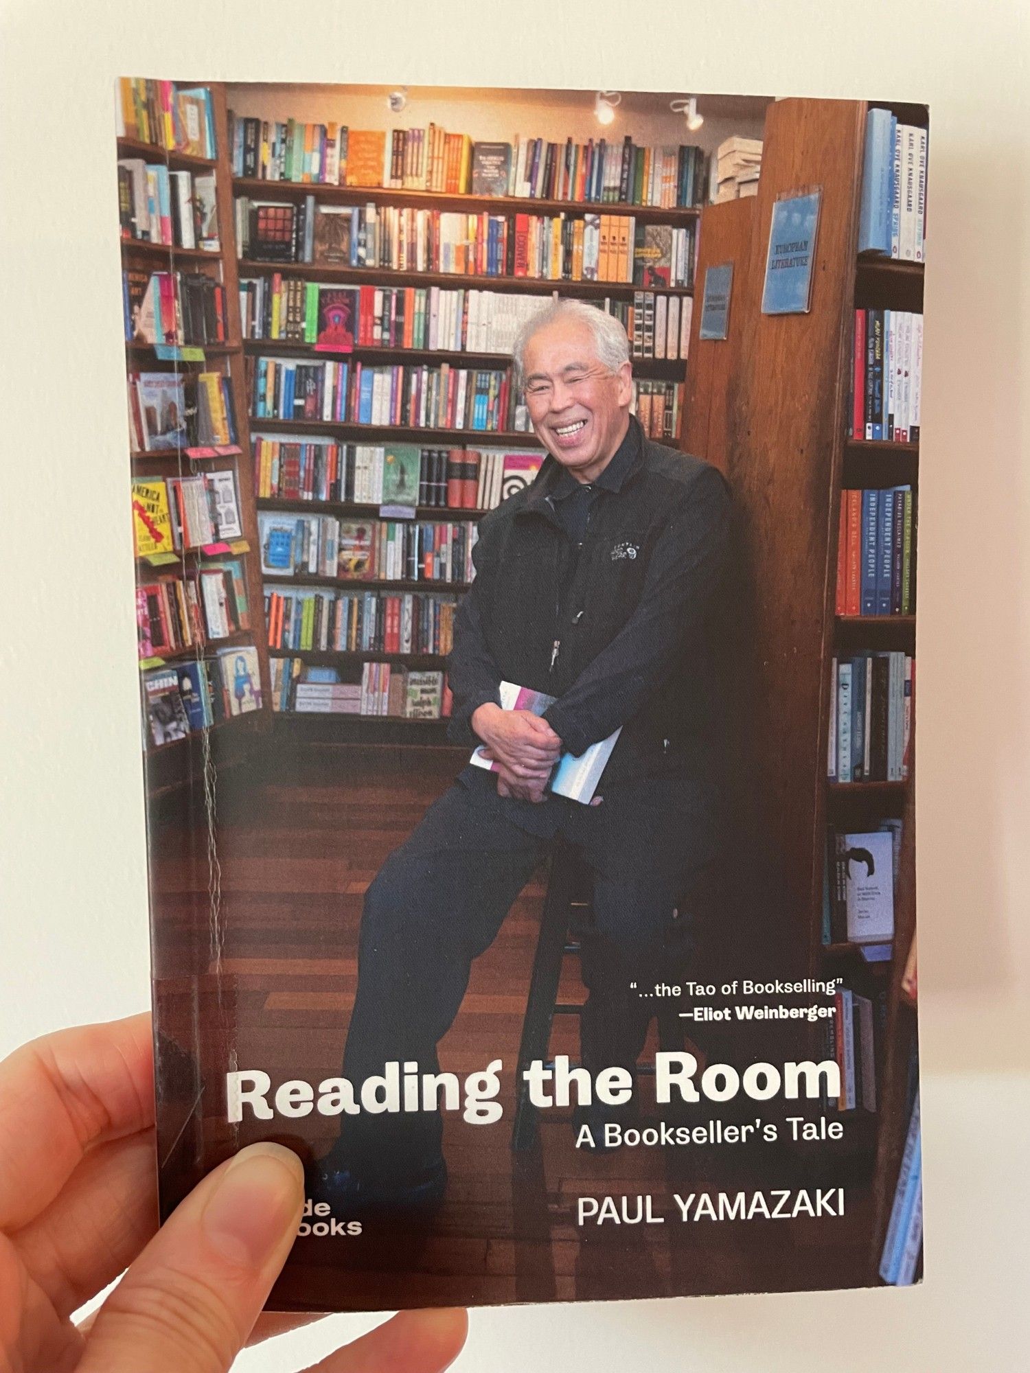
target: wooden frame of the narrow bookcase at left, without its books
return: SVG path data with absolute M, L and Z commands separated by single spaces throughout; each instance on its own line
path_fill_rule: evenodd
M 240 516 L 242 540 L 227 541 L 228 552 L 210 553 L 203 548 L 187 549 L 174 562 L 151 563 L 146 556 L 136 557 L 136 575 L 140 585 L 152 582 L 168 574 L 181 575 L 187 568 L 202 567 L 211 560 L 233 559 L 243 567 L 247 614 L 250 627 L 222 638 L 207 638 L 202 644 L 181 648 L 174 652 L 154 654 L 152 666 L 185 663 L 211 658 L 220 651 L 253 647 L 257 651 L 261 685 L 261 707 L 239 715 L 227 715 L 214 724 L 188 733 L 184 739 L 154 744 L 144 733 L 144 772 L 147 792 L 151 798 L 165 795 L 199 780 L 209 758 L 218 768 L 242 761 L 271 724 L 271 693 L 266 633 L 264 629 L 261 564 L 258 559 L 257 508 L 254 504 L 253 463 L 250 460 L 250 430 L 247 424 L 247 395 L 243 378 L 244 358 L 240 341 L 239 320 L 239 279 L 236 275 L 236 253 L 232 236 L 232 177 L 228 161 L 228 119 L 225 89 L 220 84 L 209 86 L 214 115 L 214 158 L 201 158 L 143 143 L 133 137 L 118 137 L 119 158 L 144 158 L 150 165 L 165 165 L 172 170 L 192 173 L 214 173 L 216 205 L 218 216 L 218 251 L 207 249 L 181 249 L 173 244 L 150 243 L 140 239 L 121 240 L 122 261 L 126 265 L 146 266 L 152 270 L 174 270 L 179 266 L 196 270 L 203 265 L 218 280 L 225 291 L 225 343 L 203 343 L 157 347 L 126 341 L 126 365 L 132 371 L 192 371 L 209 368 L 222 372 L 232 394 L 238 452 L 222 452 L 210 456 L 194 456 L 180 449 L 158 449 L 154 452 L 130 452 L 129 464 L 133 475 L 144 475 L 147 468 L 163 476 L 191 475 L 194 472 L 231 468 L 236 476 L 236 497 Z M 229 445 L 227 445 L 229 448 Z M 150 659 L 147 659 L 150 662 Z M 144 730 L 146 699 L 144 699 Z

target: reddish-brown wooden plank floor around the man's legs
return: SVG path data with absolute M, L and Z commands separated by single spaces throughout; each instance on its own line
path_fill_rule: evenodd
M 268 1126 L 250 1119 L 238 1131 L 227 1124 L 227 1067 L 264 1068 L 273 1086 L 339 1072 L 363 894 L 461 761 L 463 754 L 415 748 L 323 747 L 284 757 L 269 746 L 246 769 L 218 776 L 210 836 L 203 806 L 190 814 L 180 799 L 163 809 L 151 877 L 159 1023 L 174 1041 L 162 1076 L 166 1204 L 231 1149 L 268 1137 Z M 279 1304 L 394 1308 L 869 1281 L 864 1163 L 845 1177 L 839 1167 L 827 1173 L 814 1157 L 768 1146 L 593 1156 L 574 1148 L 567 1112 L 556 1111 L 545 1114 L 537 1149 L 511 1152 L 514 1064 L 544 879 L 538 873 L 530 883 L 477 962 L 441 1043 L 444 1068 L 460 1075 L 503 1060 L 504 1118 L 493 1126 L 446 1118 L 450 1185 L 422 1229 L 407 1223 L 398 1234 L 376 1223 L 360 1237 L 299 1238 L 275 1293 Z M 574 960 L 567 964 L 562 995 L 577 1001 L 582 990 Z M 199 1065 L 180 1053 L 198 1042 Z M 574 1017 L 558 1019 L 552 1052 L 577 1057 Z M 644 1086 L 644 1101 L 647 1094 Z M 658 1119 L 654 1105 L 648 1114 Z M 726 1118 L 724 1108 L 718 1114 Z M 317 1156 L 338 1119 L 312 1115 L 295 1122 L 294 1133 L 276 1120 L 273 1137 Z M 676 1192 L 845 1181 L 842 1221 L 683 1223 L 673 1200 Z M 629 1197 L 630 1214 L 637 1196 L 651 1196 L 665 1223 L 578 1227 L 580 1196 L 611 1196 L 617 1207 Z

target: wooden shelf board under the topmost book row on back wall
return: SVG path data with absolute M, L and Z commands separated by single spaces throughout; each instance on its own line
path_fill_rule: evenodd
M 492 214 L 619 214 L 648 224 L 691 224 L 698 206 L 629 205 L 625 200 L 544 200 L 520 195 L 449 195 L 444 191 L 405 191 L 400 187 L 330 185 L 324 181 L 262 181 L 235 177 L 236 195 L 253 200 L 305 200 L 328 205 L 402 205 L 428 210 L 486 210 Z

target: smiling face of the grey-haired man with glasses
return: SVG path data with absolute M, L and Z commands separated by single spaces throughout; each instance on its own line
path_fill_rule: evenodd
M 629 427 L 629 362 L 614 375 L 580 320 L 555 320 L 526 345 L 526 404 L 548 453 L 581 482 L 608 465 Z

